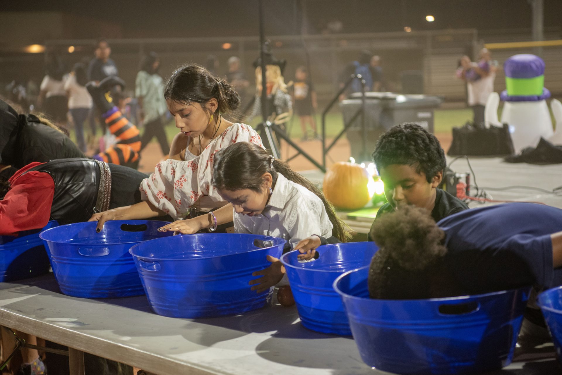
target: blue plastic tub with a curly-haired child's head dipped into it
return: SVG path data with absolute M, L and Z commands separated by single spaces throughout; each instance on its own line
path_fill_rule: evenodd
M 530 288 L 455 298 L 369 298 L 369 267 L 338 277 L 363 361 L 398 374 L 479 374 L 511 363 Z

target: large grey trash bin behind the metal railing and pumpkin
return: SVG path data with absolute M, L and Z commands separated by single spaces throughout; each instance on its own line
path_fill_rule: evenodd
M 392 126 L 403 122 L 415 122 L 425 130 L 433 132 L 433 110 L 438 108 L 441 102 L 441 98 L 428 95 L 365 93 L 366 150 L 364 153 L 361 115 L 359 115 L 347 130 L 351 156 L 357 162 L 370 161 L 370 154 L 373 152 L 379 136 Z M 361 93 L 351 94 L 339 106 L 343 121 L 347 123 L 361 108 Z

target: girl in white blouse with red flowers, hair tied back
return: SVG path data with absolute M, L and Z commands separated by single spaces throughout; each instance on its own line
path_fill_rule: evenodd
M 140 184 L 143 202 L 96 213 L 90 221 L 141 219 L 169 214 L 176 222 L 163 230 L 191 234 L 214 224 L 232 222 L 232 205 L 211 184 L 215 154 L 237 142 L 262 148 L 261 138 L 245 124 L 233 123 L 240 106 L 237 92 L 223 79 L 193 63 L 174 71 L 164 90 L 166 106 L 179 132 L 170 146 L 170 159 L 156 164 Z M 213 210 L 216 210 L 212 212 Z M 184 220 L 185 218 L 191 220 Z

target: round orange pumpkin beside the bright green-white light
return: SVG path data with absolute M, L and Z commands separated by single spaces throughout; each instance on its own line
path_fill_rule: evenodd
M 365 207 L 371 199 L 367 187 L 372 177 L 359 164 L 338 162 L 324 175 L 324 196 L 336 208 L 353 210 Z

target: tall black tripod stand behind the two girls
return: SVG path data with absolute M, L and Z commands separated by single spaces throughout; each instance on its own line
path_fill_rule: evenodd
M 260 11 L 261 116 L 263 117 L 263 122 L 257 125 L 256 130 L 260 133 L 264 146 L 271 150 L 271 155 L 273 155 L 274 158 L 279 159 L 281 153 L 277 143 L 274 140 L 273 134 L 278 136 L 280 139 L 283 139 L 285 142 L 291 145 L 291 147 L 297 150 L 297 155 L 301 154 L 317 168 L 325 172 L 326 169 L 320 163 L 315 161 L 314 158 L 307 154 L 303 149 L 298 147 L 298 145 L 295 144 L 293 140 L 291 140 L 291 138 L 287 136 L 287 134 L 285 134 L 285 132 L 279 127 L 279 125 L 272 124 L 270 121 L 268 121 L 268 92 L 265 77 L 265 58 L 266 54 L 270 54 L 270 52 L 268 51 L 268 44 L 265 42 L 264 6 L 262 4 L 262 0 L 258 0 L 258 6 Z

